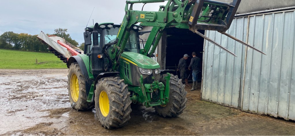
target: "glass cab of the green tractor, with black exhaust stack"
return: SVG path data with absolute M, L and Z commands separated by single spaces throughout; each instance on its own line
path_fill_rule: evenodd
M 114 23 L 99 23 L 89 26 L 84 32 L 84 54 L 90 58 L 90 68 L 94 75 L 110 71 L 111 54 L 114 45 L 107 46 L 116 41 L 121 25 Z M 142 30 L 139 25 L 134 25 L 130 30 L 130 36 L 126 42 L 124 52 L 140 53 L 138 30 Z M 97 34 L 94 34 L 97 33 Z M 106 52 L 104 52 L 104 50 Z M 107 53 L 108 55 L 104 54 Z

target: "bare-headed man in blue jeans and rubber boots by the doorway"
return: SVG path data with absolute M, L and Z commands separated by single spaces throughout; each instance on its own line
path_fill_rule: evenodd
M 196 52 L 191 53 L 191 55 L 193 56 L 193 58 L 191 59 L 191 63 L 189 64 L 189 70 L 193 70 L 193 88 L 191 88 L 191 91 L 193 91 L 197 89 L 197 78 L 200 70 L 199 66 L 201 59 L 196 56 Z

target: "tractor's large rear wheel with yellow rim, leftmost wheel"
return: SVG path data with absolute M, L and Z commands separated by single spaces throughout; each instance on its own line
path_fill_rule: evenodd
M 93 103 L 87 102 L 86 78 L 78 63 L 72 63 L 68 72 L 68 94 L 71 106 L 76 110 L 91 110 Z

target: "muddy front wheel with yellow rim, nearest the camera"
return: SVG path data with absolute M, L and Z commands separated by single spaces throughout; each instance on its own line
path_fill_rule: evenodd
M 127 85 L 119 77 L 98 80 L 94 100 L 96 114 L 104 128 L 119 128 L 130 120 L 132 102 L 129 95 Z

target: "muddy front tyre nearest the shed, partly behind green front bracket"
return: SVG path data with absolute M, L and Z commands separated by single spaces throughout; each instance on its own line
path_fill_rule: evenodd
M 167 74 L 161 75 L 160 82 L 166 86 L 166 80 L 163 79 L 165 76 Z M 185 85 L 183 85 L 178 76 L 171 74 L 169 102 L 167 105 L 155 106 L 155 111 L 163 117 L 175 117 L 183 113 L 187 102 L 187 92 L 184 87 Z

